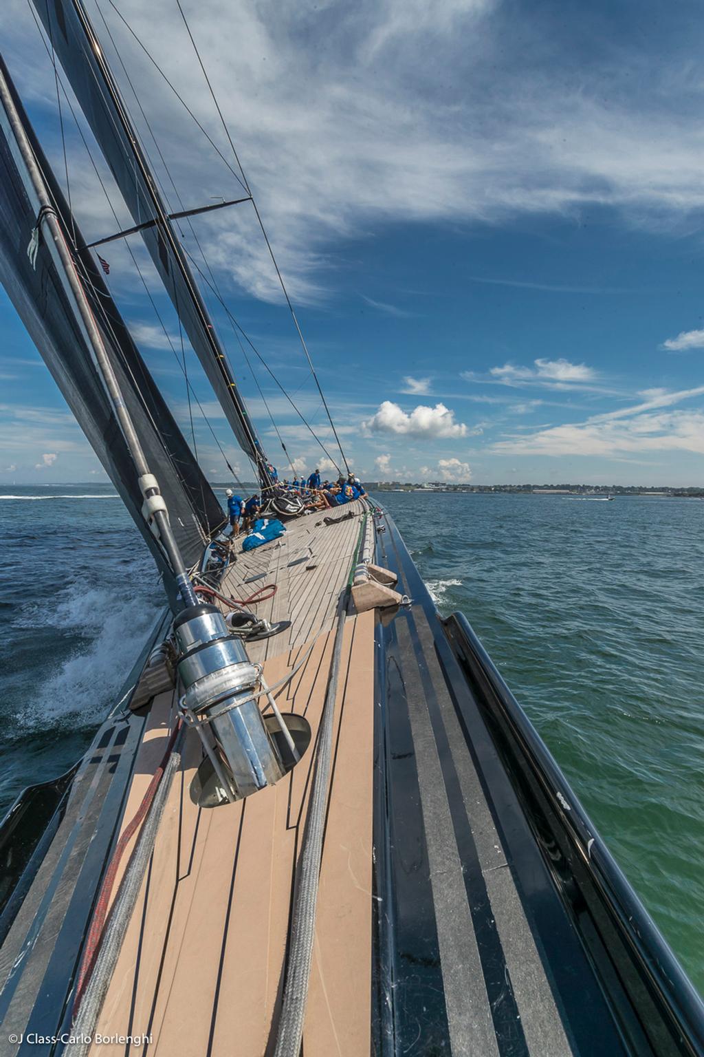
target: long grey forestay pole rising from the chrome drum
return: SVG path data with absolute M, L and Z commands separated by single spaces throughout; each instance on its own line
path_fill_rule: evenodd
M 44 227 L 51 235 L 51 241 L 47 240 L 46 242 L 50 253 L 59 273 L 65 280 L 66 293 L 73 300 L 80 318 L 84 335 L 94 353 L 98 371 L 110 396 L 125 442 L 132 456 L 134 468 L 139 480 L 139 488 L 145 499 L 142 515 L 153 525 L 152 531 L 161 541 L 180 591 L 182 600 L 187 606 L 195 606 L 197 605 L 197 598 L 186 572 L 180 550 L 169 524 L 169 512 L 166 502 L 159 492 L 158 482 L 150 470 L 147 457 L 127 409 L 119 383 L 103 345 L 100 329 L 93 315 L 74 259 L 69 249 L 63 229 L 59 223 L 58 215 L 52 203 L 41 170 L 37 165 L 21 117 L 15 107 L 15 101 L 2 68 L 0 68 L 0 103 L 4 109 L 13 142 L 17 148 L 26 179 L 38 203 L 37 226 L 34 233 L 37 239 L 37 247 L 41 228 Z

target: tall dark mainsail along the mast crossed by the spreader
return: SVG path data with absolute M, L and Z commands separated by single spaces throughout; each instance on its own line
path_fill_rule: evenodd
M 83 4 L 35 0 L 35 6 L 135 224 L 155 221 L 140 233 L 154 266 L 237 443 L 262 484 L 270 484 L 256 431 Z

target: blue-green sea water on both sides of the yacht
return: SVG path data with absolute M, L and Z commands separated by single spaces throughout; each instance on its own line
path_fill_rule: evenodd
M 110 486 L 0 495 L 0 813 L 68 769 L 161 607 Z M 383 493 L 704 993 L 704 503 Z

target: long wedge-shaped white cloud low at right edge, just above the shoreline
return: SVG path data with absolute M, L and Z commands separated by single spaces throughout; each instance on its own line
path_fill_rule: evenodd
M 704 395 L 704 386 L 654 395 L 633 407 L 595 414 L 586 422 L 549 426 L 497 441 L 496 455 L 602 456 L 620 458 L 643 451 L 692 451 L 704 455 L 704 412 L 663 408 Z

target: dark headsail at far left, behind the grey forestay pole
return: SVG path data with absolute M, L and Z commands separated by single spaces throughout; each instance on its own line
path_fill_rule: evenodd
M 57 214 L 68 229 L 65 201 L 1 58 L 0 69 L 11 88 Z M 0 281 L 94 451 L 147 539 L 164 572 L 167 590 L 171 595 L 172 573 L 159 544 L 141 516 L 142 497 L 134 464 L 95 367 L 76 309 L 66 294 L 50 249 L 41 238 L 34 267 L 27 255 L 27 246 L 37 223 L 37 203 L 33 201 L 33 194 L 23 179 L 21 160 L 1 107 L 0 133 Z M 203 552 L 203 536 L 210 536 L 224 523 L 225 516 L 130 337 L 77 229 L 76 241 L 77 265 L 100 327 L 106 350 L 150 469 L 159 482 L 184 559 L 187 564 L 192 564 Z

